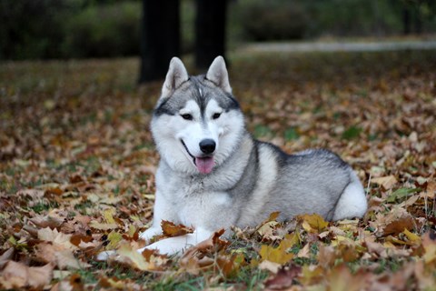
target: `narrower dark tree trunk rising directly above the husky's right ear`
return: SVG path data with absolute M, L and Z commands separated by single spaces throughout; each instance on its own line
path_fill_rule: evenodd
M 217 55 L 225 57 L 227 0 L 195 2 L 195 66 L 205 69 Z

